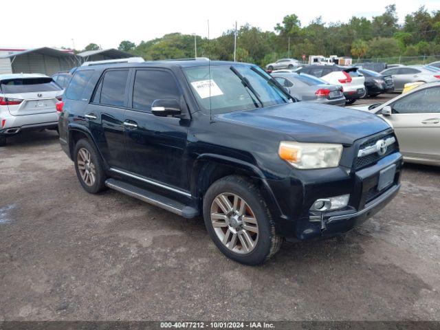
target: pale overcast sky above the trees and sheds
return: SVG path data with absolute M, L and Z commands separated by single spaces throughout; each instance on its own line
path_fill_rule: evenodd
M 294 0 L 14 0 L 1 9 L 16 14 L 1 16 L 0 48 L 64 46 L 82 50 L 89 43 L 96 43 L 106 49 L 118 47 L 122 40 L 137 44 L 171 32 L 208 36 L 208 20 L 210 37 L 215 38 L 232 29 L 235 21 L 239 26 L 250 23 L 273 31 L 287 14 L 296 14 L 302 25 L 319 16 L 327 23 L 347 22 L 352 16 L 380 15 L 392 3 L 396 4 L 399 23 L 420 5 L 430 11 L 440 10 L 440 0 L 333 1 L 335 5 L 329 5 L 331 2 L 314 0 L 311 5 L 311 1 Z

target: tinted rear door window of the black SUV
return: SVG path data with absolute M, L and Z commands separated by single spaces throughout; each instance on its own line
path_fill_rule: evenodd
M 102 79 L 100 104 L 123 107 L 125 101 L 126 79 L 129 70 L 111 70 Z

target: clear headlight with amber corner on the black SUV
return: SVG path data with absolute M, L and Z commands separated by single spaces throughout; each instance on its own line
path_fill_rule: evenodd
M 278 155 L 296 168 L 330 168 L 339 165 L 342 148 L 342 144 L 282 141 Z

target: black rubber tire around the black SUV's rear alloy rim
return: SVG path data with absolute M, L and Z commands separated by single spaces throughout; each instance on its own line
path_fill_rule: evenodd
M 83 179 L 83 177 L 80 175 L 80 169 L 78 168 L 78 157 L 80 156 L 78 156 L 78 153 L 81 149 L 85 149 L 89 152 L 91 163 L 94 164 L 95 179 L 93 184 L 87 184 L 85 182 L 85 179 Z M 105 186 L 105 179 L 107 179 L 107 176 L 104 173 L 101 156 L 96 150 L 94 144 L 91 144 L 89 140 L 81 139 L 76 142 L 74 148 L 74 164 L 76 176 L 78 177 L 78 180 L 80 181 L 80 184 L 81 186 L 83 186 L 85 191 L 91 194 L 97 194 L 98 192 L 107 188 L 107 186 Z

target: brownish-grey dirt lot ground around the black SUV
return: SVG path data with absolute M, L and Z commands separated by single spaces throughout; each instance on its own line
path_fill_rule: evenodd
M 0 320 L 440 320 L 440 169 L 340 239 L 226 259 L 202 221 L 89 195 L 54 132 L 0 148 Z

